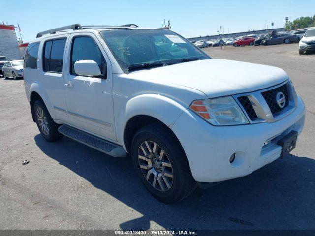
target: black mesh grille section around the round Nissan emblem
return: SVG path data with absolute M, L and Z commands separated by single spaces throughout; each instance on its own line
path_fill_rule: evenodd
M 281 108 L 277 103 L 276 96 L 277 96 L 278 92 L 282 92 L 285 96 L 285 105 L 283 108 Z M 266 102 L 270 108 L 270 111 L 272 112 L 273 115 L 282 111 L 284 108 L 286 108 L 289 105 L 289 90 L 288 90 L 287 84 L 280 86 L 278 88 L 275 88 L 275 89 L 264 91 L 261 93 L 261 95 L 266 100 Z

